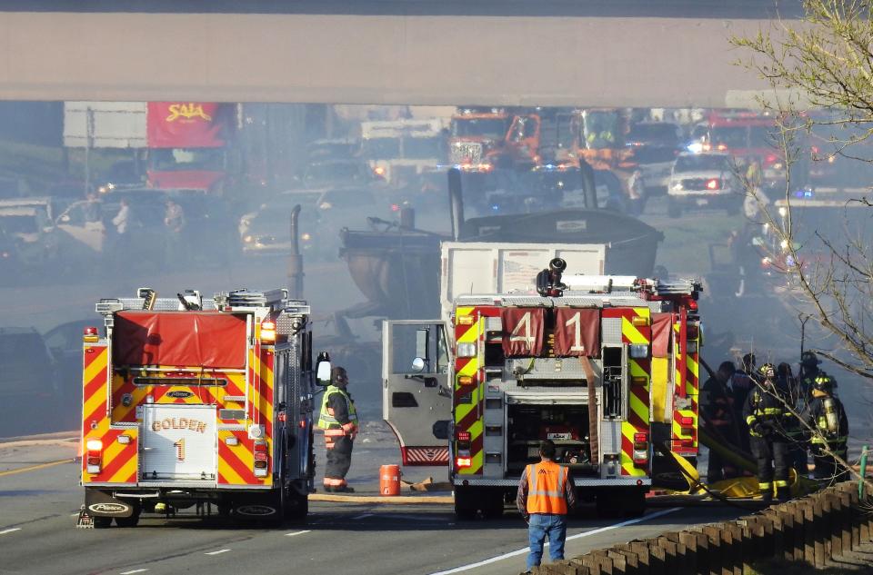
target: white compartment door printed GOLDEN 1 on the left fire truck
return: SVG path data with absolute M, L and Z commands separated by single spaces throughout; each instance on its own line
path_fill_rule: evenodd
M 146 404 L 140 482 L 216 484 L 216 408 Z

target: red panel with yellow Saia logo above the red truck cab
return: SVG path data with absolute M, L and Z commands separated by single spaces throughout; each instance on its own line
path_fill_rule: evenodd
M 150 148 L 217 148 L 233 125 L 233 104 L 149 102 L 146 115 Z

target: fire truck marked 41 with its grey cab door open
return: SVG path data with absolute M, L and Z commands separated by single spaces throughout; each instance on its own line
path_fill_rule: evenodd
M 443 321 L 383 323 L 384 417 L 404 465 L 447 466 L 459 517 L 502 513 L 543 440 L 603 514 L 645 511 L 654 442 L 697 456 L 700 283 L 566 265 L 458 296 Z

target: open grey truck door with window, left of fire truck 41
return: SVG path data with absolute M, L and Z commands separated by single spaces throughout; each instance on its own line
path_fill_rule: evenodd
M 445 322 L 382 322 L 382 417 L 404 465 L 447 465 L 452 394 Z

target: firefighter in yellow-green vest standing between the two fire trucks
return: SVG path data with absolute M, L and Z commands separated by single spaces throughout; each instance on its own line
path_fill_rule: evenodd
M 346 370 L 342 367 L 333 368 L 318 418 L 318 427 L 325 431 L 325 491 L 330 492 L 355 491 L 346 483 L 346 473 L 352 464 L 352 448 L 358 429 L 355 402 L 346 392 L 347 384 Z

